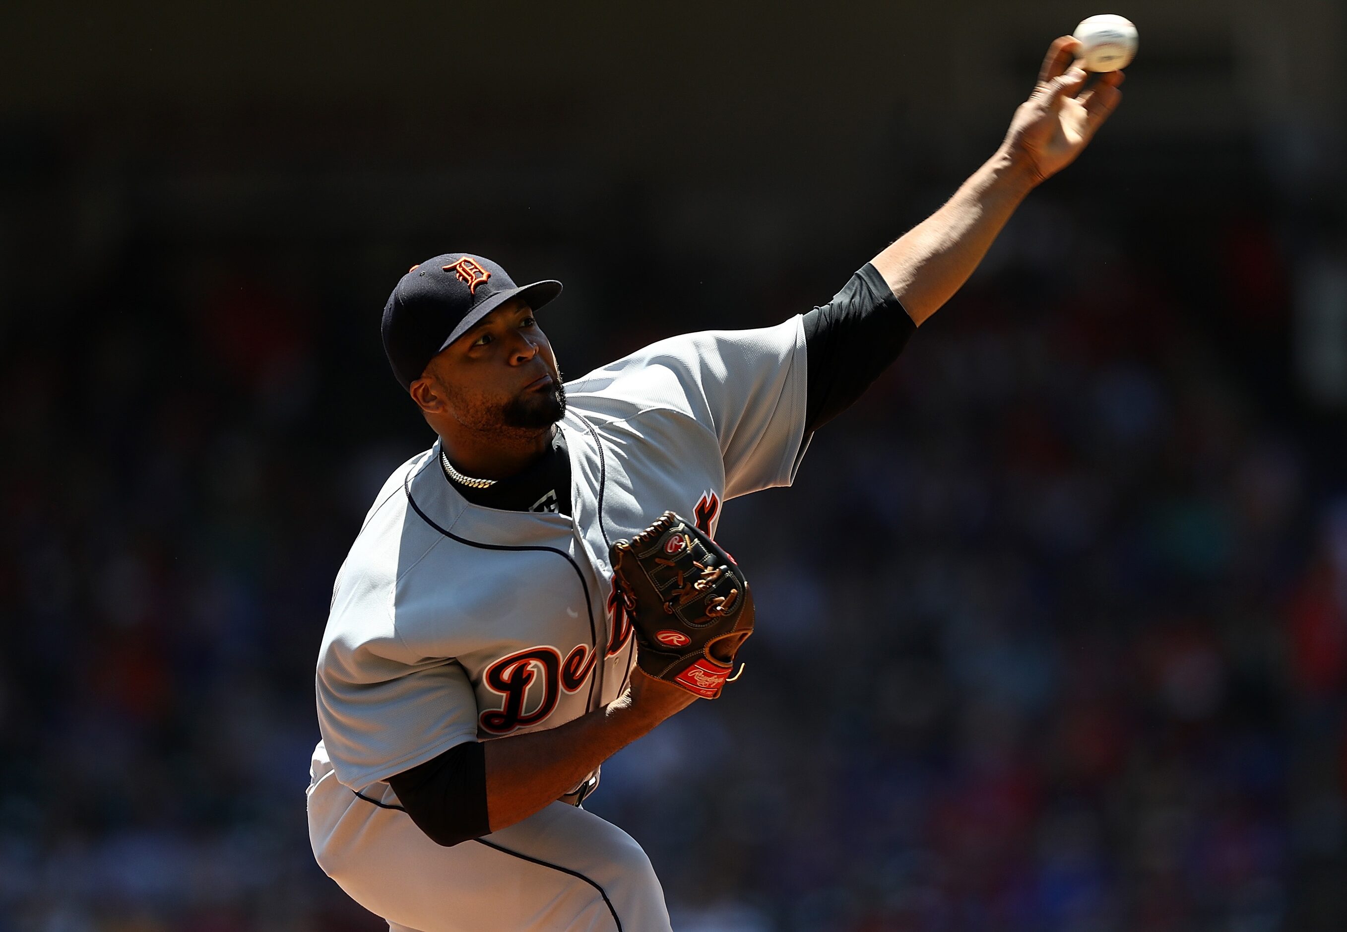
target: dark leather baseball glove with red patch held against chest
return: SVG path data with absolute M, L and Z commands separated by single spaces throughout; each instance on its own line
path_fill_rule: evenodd
M 753 595 L 738 564 L 674 512 L 613 544 L 613 572 L 636 632 L 636 664 L 715 699 L 753 633 Z

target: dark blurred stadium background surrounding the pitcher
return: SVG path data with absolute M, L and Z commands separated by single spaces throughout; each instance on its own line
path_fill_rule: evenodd
M 680 931 L 1347 927 L 1347 13 L 1129 3 L 0 9 L 0 929 L 381 928 L 303 789 L 408 265 L 564 280 L 572 377 L 775 323 L 1098 12 L 1121 110 L 726 506 L 745 679 L 587 805 Z

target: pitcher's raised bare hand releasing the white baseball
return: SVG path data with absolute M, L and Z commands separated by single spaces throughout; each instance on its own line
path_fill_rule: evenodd
M 1102 74 L 1091 90 L 1080 94 L 1087 74 L 1079 61 L 1072 63 L 1079 47 L 1080 40 L 1070 35 L 1052 43 L 1043 59 L 1037 86 L 1016 109 L 1006 132 L 1005 147 L 1032 166 L 1036 182 L 1047 180 L 1075 162 L 1122 100 L 1118 90 L 1122 71 Z

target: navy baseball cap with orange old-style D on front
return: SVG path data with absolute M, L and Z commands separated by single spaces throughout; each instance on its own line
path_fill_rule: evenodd
M 519 287 L 500 265 L 482 256 L 449 252 L 412 265 L 384 304 L 384 353 L 403 388 L 426 364 L 473 325 L 511 298 L 535 311 L 562 294 L 562 283 Z

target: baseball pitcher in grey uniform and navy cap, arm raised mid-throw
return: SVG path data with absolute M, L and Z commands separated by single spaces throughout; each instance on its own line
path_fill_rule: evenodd
M 401 277 L 384 347 L 438 439 L 369 509 L 317 671 L 310 839 L 348 894 L 391 929 L 669 928 L 640 846 L 581 803 L 607 757 L 719 695 L 733 655 L 676 679 L 638 664 L 686 634 L 643 626 L 614 554 L 634 539 L 678 555 L 714 536 L 725 500 L 792 481 L 812 432 L 1117 105 L 1122 74 L 1084 90 L 1076 46 L 1052 43 L 1005 141 L 948 203 L 777 326 L 664 339 L 563 384 L 535 317 L 560 283 L 516 287 L 470 253 Z M 652 537 L 667 509 L 687 533 Z M 699 598 L 737 571 L 713 550 L 649 559 Z M 737 599 L 725 590 L 707 613 Z

